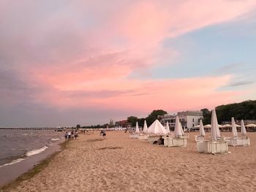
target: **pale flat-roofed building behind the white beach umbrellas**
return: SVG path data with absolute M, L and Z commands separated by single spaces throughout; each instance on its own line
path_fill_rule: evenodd
M 178 112 L 178 118 L 181 122 L 182 128 L 185 130 L 187 128 L 193 128 L 199 125 L 200 119 L 203 119 L 203 112 L 201 111 L 185 111 L 185 112 Z M 163 125 L 166 125 L 167 121 L 169 123 L 170 129 L 174 130 L 176 115 L 159 115 L 158 117 L 160 122 Z

